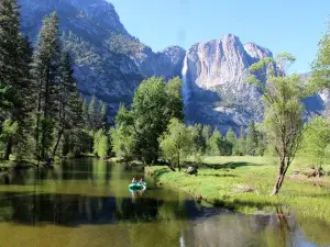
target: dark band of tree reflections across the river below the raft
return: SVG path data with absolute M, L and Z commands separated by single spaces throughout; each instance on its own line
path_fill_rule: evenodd
M 15 195 L 15 193 L 7 193 L 6 197 L 9 198 L 8 204 L 3 203 L 0 209 L 11 209 L 11 218 L 8 220 L 28 225 L 38 223 L 79 225 L 81 223 L 112 223 L 113 221 L 154 222 L 160 218 L 183 217 L 185 211 L 183 206 L 178 209 L 176 202 L 150 198 L 139 198 L 135 203 L 132 203 L 131 198 L 117 200 L 112 197 L 78 194 L 21 193 Z M 118 205 L 118 202 L 121 204 Z

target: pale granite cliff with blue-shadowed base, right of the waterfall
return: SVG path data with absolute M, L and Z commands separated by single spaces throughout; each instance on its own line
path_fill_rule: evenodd
M 246 83 L 249 67 L 273 54 L 254 43 L 243 45 L 232 34 L 198 43 L 187 53 L 191 90 L 189 121 L 210 123 L 222 131 L 260 121 L 260 92 Z

